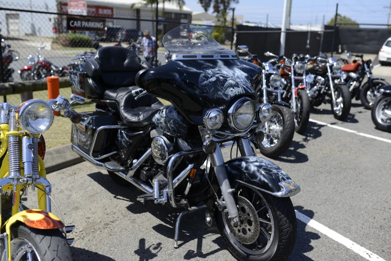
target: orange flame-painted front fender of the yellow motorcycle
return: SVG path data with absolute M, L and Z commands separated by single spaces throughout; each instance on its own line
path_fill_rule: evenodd
M 37 229 L 58 229 L 65 226 L 56 215 L 41 209 L 27 209 L 12 215 L 3 224 L 8 235 L 8 260 L 11 260 L 11 225 L 17 221 Z

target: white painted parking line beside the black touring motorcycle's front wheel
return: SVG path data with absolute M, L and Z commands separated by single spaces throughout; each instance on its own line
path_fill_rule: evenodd
M 296 210 L 295 210 L 295 212 L 296 212 L 296 218 L 297 219 L 303 221 L 304 223 L 306 223 L 310 227 L 315 228 L 316 230 L 318 230 L 322 234 L 327 235 L 328 237 L 330 237 L 331 239 L 337 241 L 338 243 L 343 244 L 344 246 L 346 246 L 347 248 L 349 248 L 349 249 L 353 250 L 354 252 L 358 253 L 359 255 L 364 257 L 365 259 L 370 260 L 370 261 L 385 261 L 385 259 L 381 258 L 377 254 L 372 253 L 371 251 L 369 251 L 369 250 L 365 249 L 364 247 L 354 243 L 350 239 L 344 237 L 341 234 L 338 234 L 334 230 L 331 230 L 330 228 L 322 225 L 321 223 L 313 220 L 312 218 L 309 218 L 308 216 L 306 216 L 306 215 L 304 215 L 304 214 L 302 214 L 302 213 L 300 213 L 300 212 L 298 212 Z

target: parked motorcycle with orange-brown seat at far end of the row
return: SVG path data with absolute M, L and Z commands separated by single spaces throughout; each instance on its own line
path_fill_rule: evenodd
M 360 61 L 352 60 L 348 62 L 346 58 L 355 56 L 360 58 Z M 383 78 L 374 78 L 372 74 L 372 61 L 370 59 L 364 60 L 363 54 L 347 53 L 346 58 L 340 58 L 345 65 L 342 66 L 342 78 L 349 87 L 351 98 L 360 99 L 365 108 L 370 109 L 379 95 L 378 89 L 388 85 Z M 365 76 L 367 81 L 362 84 Z M 362 85 L 361 85 L 362 84 Z

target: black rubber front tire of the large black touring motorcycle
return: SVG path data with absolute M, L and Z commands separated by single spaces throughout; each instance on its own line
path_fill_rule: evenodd
M 246 244 L 244 243 L 244 247 L 243 247 L 243 245 L 240 244 L 240 242 L 230 232 L 228 226 L 226 225 L 224 212 L 223 211 L 220 212 L 218 210 L 216 210 L 216 213 L 214 215 L 217 229 L 222 239 L 226 243 L 228 251 L 237 260 L 240 261 L 286 260 L 293 250 L 296 241 L 296 236 L 297 236 L 297 219 L 294 213 L 292 201 L 290 200 L 289 197 L 274 197 L 264 192 L 260 192 L 260 194 L 262 196 L 262 199 L 264 199 L 264 201 L 267 203 L 268 209 L 270 210 L 272 215 L 272 217 L 270 218 L 270 222 L 272 222 L 273 228 L 272 231 L 270 232 L 270 239 L 268 239 L 271 240 L 271 242 L 269 243 L 267 249 L 264 249 L 263 252 L 259 251 L 258 253 L 256 252 L 256 250 L 255 251 L 249 250 L 247 252 Z M 255 208 L 255 205 L 251 202 L 252 198 L 246 198 L 246 199 L 248 199 L 248 202 Z M 241 207 L 239 213 L 241 214 L 243 210 L 245 211 L 245 209 Z M 246 213 L 244 212 L 244 214 Z M 251 221 L 251 219 L 250 218 L 246 219 L 245 217 L 246 216 L 244 215 L 245 221 L 243 223 L 251 224 L 251 222 L 248 222 L 249 220 Z M 260 223 L 259 224 L 260 227 L 264 229 L 263 231 L 266 231 L 264 226 L 262 226 L 262 222 L 260 221 L 258 222 Z M 244 229 L 245 231 L 246 226 L 243 225 L 243 223 L 241 224 L 240 227 L 241 231 L 243 231 L 242 229 Z M 270 228 L 269 227 L 267 228 L 266 226 L 266 229 L 270 229 Z M 249 232 L 251 233 L 251 231 Z M 259 231 L 259 233 L 263 233 L 263 232 Z M 266 233 L 268 233 L 268 231 L 266 231 Z M 259 240 L 261 239 L 262 237 L 259 237 Z M 256 242 L 257 241 L 258 239 L 256 239 Z

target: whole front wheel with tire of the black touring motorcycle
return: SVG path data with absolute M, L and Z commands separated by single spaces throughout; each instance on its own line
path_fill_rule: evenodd
M 239 188 L 240 223 L 231 224 L 228 213 L 216 213 L 217 228 L 229 252 L 238 260 L 285 260 L 297 234 L 292 202 L 245 185 Z

